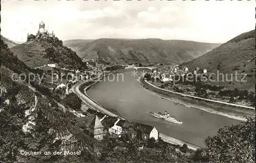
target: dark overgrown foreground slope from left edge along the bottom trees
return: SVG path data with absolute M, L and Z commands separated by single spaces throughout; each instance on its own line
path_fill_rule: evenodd
M 57 102 L 51 94 L 24 81 L 17 74 L 35 73 L 19 61 L 1 40 L 0 160 L 3 162 L 187 162 L 178 146 L 163 141 L 130 141 L 105 137 L 97 141 L 76 123 L 82 115 Z M 28 77 L 28 76 L 27 76 Z M 78 97 L 76 97 L 78 98 Z M 127 137 L 127 139 L 129 139 Z M 154 143 L 154 144 L 152 144 Z M 141 146 L 145 146 L 142 150 Z M 151 146 L 150 146 L 151 145 Z M 187 150 L 187 149 L 186 149 Z M 62 154 L 54 154 L 54 152 Z M 78 152 L 65 155 L 65 151 Z M 29 152 L 25 154 L 25 152 Z M 37 152 L 30 153 L 30 152 Z M 40 152 L 40 153 L 39 153 Z M 47 152 L 47 154 L 45 153 Z M 50 154 L 48 154 L 50 152 Z M 192 152 L 188 151 L 187 152 Z

